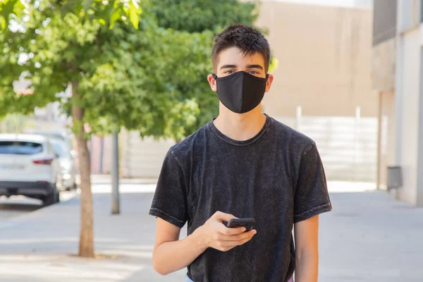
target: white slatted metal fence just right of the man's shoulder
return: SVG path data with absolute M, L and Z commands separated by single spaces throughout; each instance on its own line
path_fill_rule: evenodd
M 316 142 L 328 180 L 375 182 L 377 118 L 276 118 Z

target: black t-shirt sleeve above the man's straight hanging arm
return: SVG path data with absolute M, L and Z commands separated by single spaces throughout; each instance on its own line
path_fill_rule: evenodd
M 302 154 L 294 196 L 294 223 L 331 209 L 323 164 L 313 144 Z

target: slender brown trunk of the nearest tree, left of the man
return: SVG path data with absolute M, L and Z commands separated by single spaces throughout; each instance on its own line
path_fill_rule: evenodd
M 80 257 L 94 257 L 94 236 L 92 223 L 92 192 L 91 192 L 91 168 L 90 154 L 88 152 L 87 140 L 85 139 L 84 115 L 82 106 L 78 102 L 78 82 L 72 82 L 72 96 L 77 104 L 72 106 L 72 118 L 74 125 L 78 126 L 76 142 L 78 145 L 78 156 L 81 177 L 81 224 L 80 224 Z

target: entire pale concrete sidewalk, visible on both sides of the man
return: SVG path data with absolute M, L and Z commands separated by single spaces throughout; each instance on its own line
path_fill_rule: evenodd
M 122 185 L 121 215 L 111 216 L 108 190 L 99 187 L 93 187 L 95 249 L 109 258 L 71 256 L 78 252 L 77 196 L 0 223 L 0 280 L 183 281 L 185 271 L 162 277 L 152 269 L 150 188 Z M 333 192 L 331 200 L 333 212 L 320 221 L 319 281 L 422 281 L 423 209 L 377 191 Z

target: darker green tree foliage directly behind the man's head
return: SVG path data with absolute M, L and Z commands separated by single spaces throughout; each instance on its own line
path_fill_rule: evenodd
M 233 23 L 253 25 L 258 16 L 259 1 L 238 0 L 150 0 L 151 12 L 158 25 L 185 37 L 188 48 L 178 46 L 180 67 L 163 70 L 172 78 L 173 89 L 180 99 L 197 103 L 196 122 L 185 125 L 185 136 L 211 121 L 219 113 L 219 99 L 210 90 L 207 75 L 212 69 L 213 37 Z M 184 42 L 178 42 L 184 44 Z M 175 70 L 178 70 L 177 72 Z

